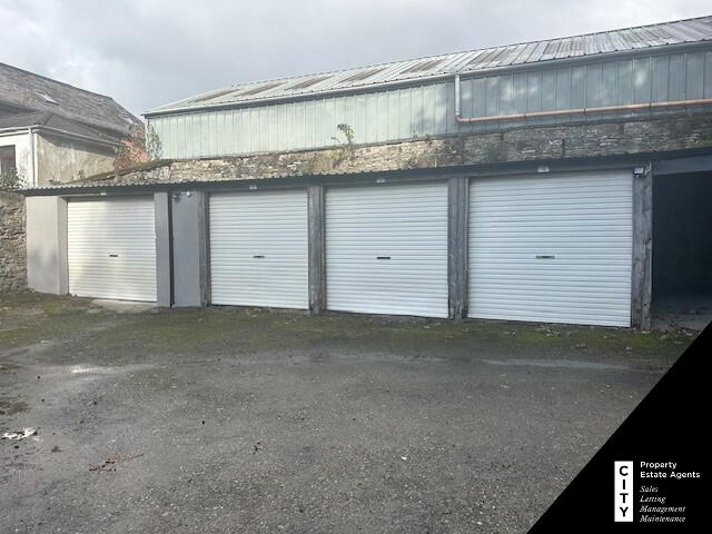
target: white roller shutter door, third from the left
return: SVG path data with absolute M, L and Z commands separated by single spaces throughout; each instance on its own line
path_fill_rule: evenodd
M 447 185 L 326 191 L 327 307 L 447 317 Z

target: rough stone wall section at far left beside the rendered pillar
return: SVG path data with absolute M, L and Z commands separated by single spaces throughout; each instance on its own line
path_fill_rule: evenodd
M 24 197 L 0 191 L 0 294 L 27 288 Z

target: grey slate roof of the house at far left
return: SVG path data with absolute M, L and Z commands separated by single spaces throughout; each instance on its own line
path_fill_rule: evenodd
M 53 118 L 48 120 L 55 123 L 60 121 L 65 126 L 72 123 L 76 125 L 72 127 L 76 130 L 88 128 L 85 135 L 93 135 L 91 132 L 98 132 L 100 129 L 106 130 L 101 134 L 103 137 L 116 139 L 127 135 L 132 125 L 140 123 L 138 118 L 119 106 L 111 97 L 6 63 L 0 63 L 0 105 L 2 103 L 20 108 L 26 112 L 21 112 L 24 118 L 11 119 L 8 116 L 0 116 L 0 128 L 4 127 L 3 123 L 26 121 L 32 113 L 39 112 L 51 115 Z

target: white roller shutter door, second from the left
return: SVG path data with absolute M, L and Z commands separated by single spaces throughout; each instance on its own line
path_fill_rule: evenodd
M 308 308 L 307 220 L 306 189 L 211 194 L 212 304 Z

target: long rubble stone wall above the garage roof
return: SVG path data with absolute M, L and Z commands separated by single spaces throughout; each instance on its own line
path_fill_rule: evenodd
M 540 126 L 496 134 L 468 134 L 403 142 L 342 146 L 194 160 L 154 161 L 142 169 L 83 180 L 112 184 L 265 179 L 284 176 L 347 175 L 444 168 L 493 162 L 565 160 L 642 152 L 712 148 L 712 113 L 627 121 Z

